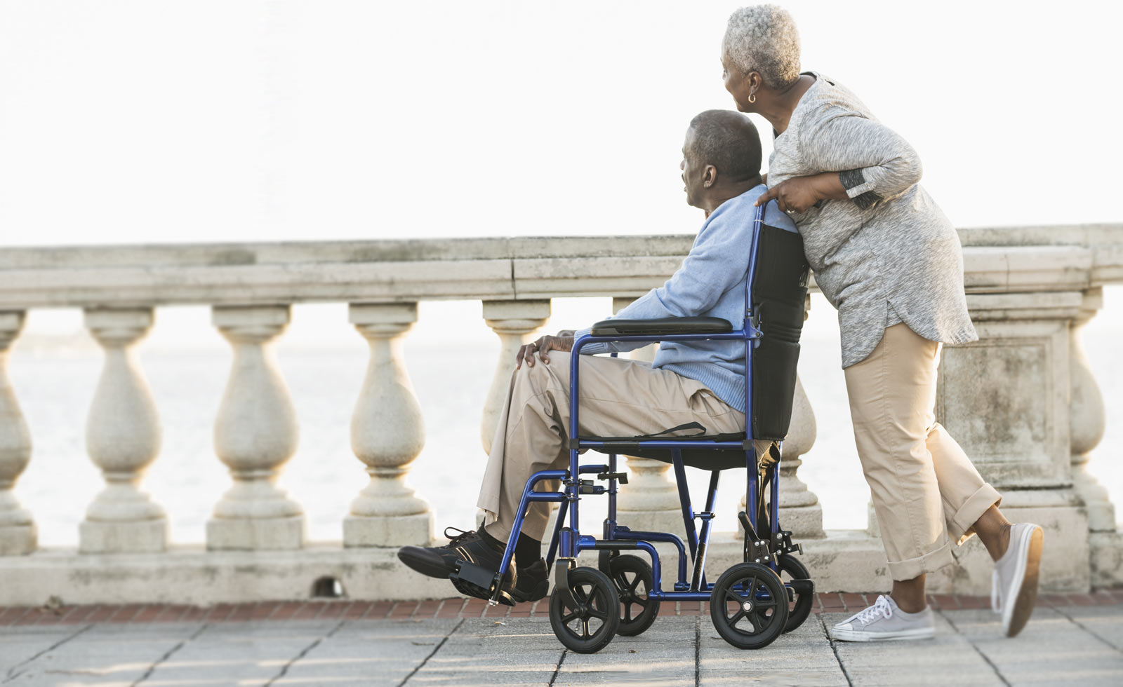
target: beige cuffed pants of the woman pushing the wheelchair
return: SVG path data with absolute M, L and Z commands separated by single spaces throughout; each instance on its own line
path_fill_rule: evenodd
M 975 521 L 1002 501 L 933 414 L 940 344 L 894 324 L 846 368 L 858 457 L 895 580 L 952 562 Z

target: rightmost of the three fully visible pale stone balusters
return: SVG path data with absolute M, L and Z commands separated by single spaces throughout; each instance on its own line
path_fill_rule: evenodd
M 350 305 L 350 322 L 371 344 L 371 361 L 351 416 L 351 450 L 371 483 L 344 520 L 345 547 L 398 547 L 432 540 L 432 511 L 405 483 L 424 447 L 424 419 L 402 358 L 402 335 L 417 303 Z

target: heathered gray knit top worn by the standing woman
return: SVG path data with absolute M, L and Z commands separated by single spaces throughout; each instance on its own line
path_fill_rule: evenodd
M 849 200 L 792 214 L 823 295 L 839 311 L 842 367 L 865 360 L 885 328 L 906 323 L 944 344 L 978 339 L 967 314 L 955 227 L 917 182 L 920 158 L 849 90 L 811 73 L 768 158 L 768 186 L 839 172 Z

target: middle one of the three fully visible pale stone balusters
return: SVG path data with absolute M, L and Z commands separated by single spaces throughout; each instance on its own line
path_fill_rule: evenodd
M 304 513 L 276 486 L 296 451 L 299 428 L 268 344 L 289 324 L 287 305 L 214 306 L 212 322 L 234 348 L 214 421 L 214 450 L 234 486 L 207 522 L 208 549 L 299 549 Z

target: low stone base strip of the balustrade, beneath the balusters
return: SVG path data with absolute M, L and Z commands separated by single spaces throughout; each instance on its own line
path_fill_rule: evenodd
M 801 560 L 811 570 L 816 590 L 888 589 L 891 580 L 882 542 L 866 532 L 828 530 L 824 539 L 803 544 Z M 660 544 L 659 550 L 664 587 L 669 588 L 677 557 L 674 549 Z M 1116 547 L 1111 551 L 1119 558 L 1123 549 Z M 1074 553 L 1063 539 L 1047 539 L 1042 590 L 1088 590 L 1087 575 L 1072 575 Z M 929 576 L 929 590 L 988 593 L 993 566 L 977 539 L 959 549 L 957 557 L 958 566 Z M 582 560 L 585 565 L 596 565 L 594 556 Z M 714 533 L 706 561 L 707 577 L 716 579 L 740 560 L 741 542 L 736 534 Z M 1097 583 L 1117 584 L 1119 574 L 1115 576 L 1116 579 L 1107 580 L 1106 574 L 1102 575 Z M 0 579 L 3 580 L 0 605 L 39 604 L 52 596 L 65 604 L 303 599 L 313 596 L 318 588 L 331 589 L 335 581 L 345 596 L 355 599 L 444 598 L 453 593 L 448 581 L 423 577 L 401 565 L 394 548 L 345 549 L 339 542 L 311 544 L 299 551 L 207 551 L 200 544 L 172 547 L 159 555 L 81 555 L 73 549 L 45 549 L 0 559 Z

